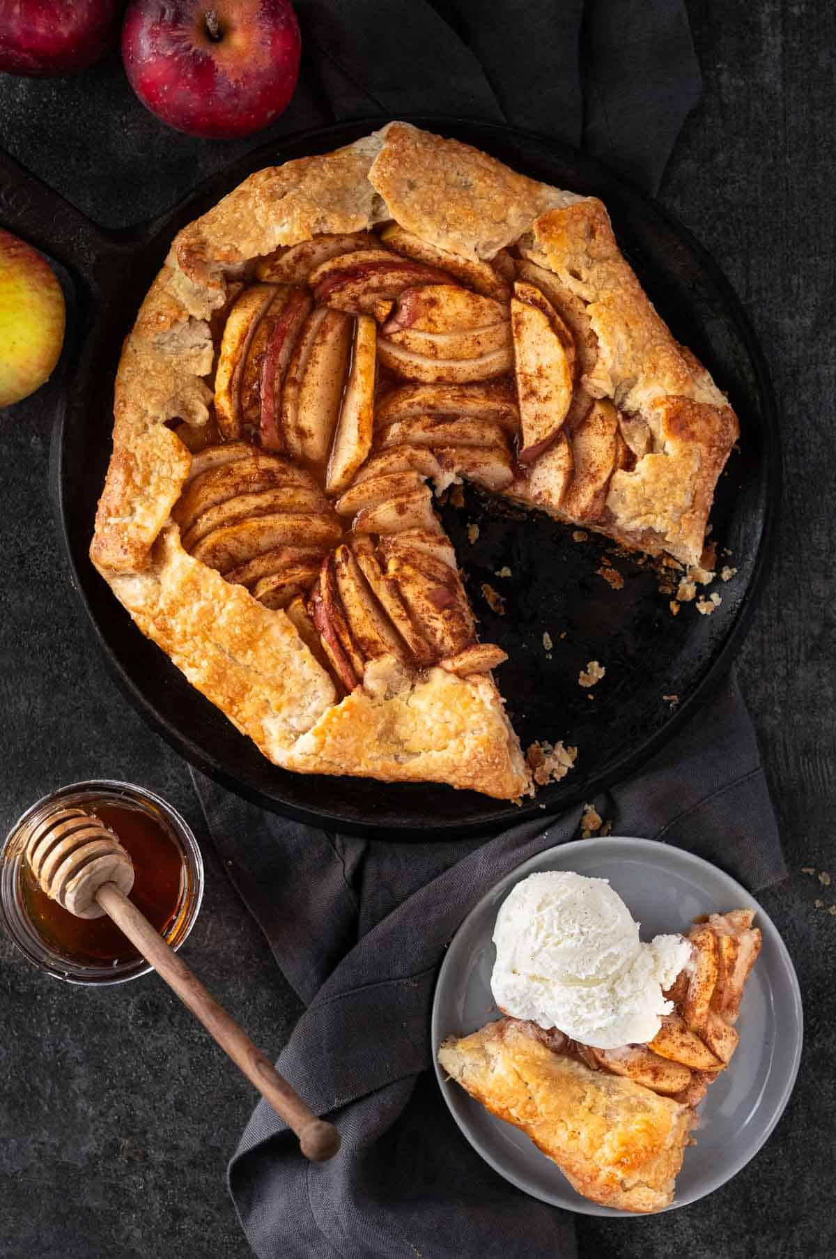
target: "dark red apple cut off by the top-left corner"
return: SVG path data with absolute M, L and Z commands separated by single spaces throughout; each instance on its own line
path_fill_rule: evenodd
M 78 74 L 115 43 L 120 0 L 16 0 L 0 4 L 0 71 Z

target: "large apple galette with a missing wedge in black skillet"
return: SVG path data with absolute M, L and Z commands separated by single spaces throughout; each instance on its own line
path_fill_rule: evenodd
M 738 432 L 601 201 L 398 122 L 179 233 L 115 417 L 91 556 L 194 686 L 287 769 L 500 798 L 505 653 L 433 490 L 698 563 Z

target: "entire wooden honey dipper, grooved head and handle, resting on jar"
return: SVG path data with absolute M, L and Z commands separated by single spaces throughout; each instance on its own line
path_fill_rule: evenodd
M 267 1055 L 253 1045 L 244 1030 L 127 899 L 133 886 L 133 862 L 101 818 L 76 807 L 50 813 L 31 831 L 25 857 L 45 894 L 71 914 L 78 918 L 107 914 L 112 918 L 296 1133 L 306 1158 L 319 1162 L 337 1152 L 340 1134 L 334 1124 L 314 1114 Z

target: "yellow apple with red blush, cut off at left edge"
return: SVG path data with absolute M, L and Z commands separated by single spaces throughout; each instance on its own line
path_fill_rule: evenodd
M 0 407 L 52 374 L 64 344 L 64 295 L 45 258 L 0 229 Z

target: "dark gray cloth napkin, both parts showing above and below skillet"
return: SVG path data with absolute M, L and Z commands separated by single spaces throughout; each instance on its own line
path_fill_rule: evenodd
M 658 186 L 700 76 L 682 0 L 300 0 L 293 126 L 448 115 L 529 127 Z M 261 1103 L 229 1170 L 261 1259 L 577 1253 L 573 1217 L 506 1185 L 461 1137 L 428 1071 L 444 947 L 580 810 L 485 841 L 369 842 L 264 813 L 194 776 L 225 869 L 307 1010 L 280 1069 L 342 1148 L 311 1166 Z M 630 782 L 594 802 L 616 833 L 689 847 L 753 890 L 783 864 L 733 682 Z M 594 842 L 594 841 L 589 841 Z

